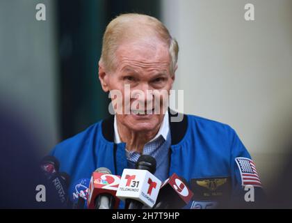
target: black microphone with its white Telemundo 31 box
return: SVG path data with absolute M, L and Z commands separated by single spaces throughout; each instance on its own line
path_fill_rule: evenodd
M 161 180 L 154 176 L 156 160 L 150 155 L 140 155 L 136 169 L 124 169 L 116 196 L 124 199 L 127 209 L 153 207 L 159 194 Z

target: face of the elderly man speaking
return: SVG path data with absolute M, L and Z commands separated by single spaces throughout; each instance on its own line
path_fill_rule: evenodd
M 122 93 L 122 104 L 117 105 L 122 107 L 122 114 L 117 114 L 117 122 L 133 131 L 157 130 L 168 107 L 163 105 L 162 95 L 168 98 L 175 77 L 170 75 L 168 46 L 157 38 L 122 42 L 115 56 L 117 67 L 111 74 L 106 74 L 105 80 L 109 91 Z M 126 85 L 130 92 L 125 91 Z M 161 96 L 156 99 L 160 100 L 154 102 L 159 93 Z M 130 95 L 131 98 L 125 100 Z M 130 113 L 125 114 L 125 109 L 130 109 Z M 137 114 L 142 110 L 145 114 Z M 159 114 L 156 114 L 157 111 L 160 111 Z M 149 112 L 152 114 L 147 114 Z

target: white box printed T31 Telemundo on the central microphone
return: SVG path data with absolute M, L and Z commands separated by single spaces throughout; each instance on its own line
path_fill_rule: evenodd
M 144 169 L 124 169 L 117 188 L 116 196 L 120 199 L 135 199 L 153 207 L 156 203 L 161 180 Z

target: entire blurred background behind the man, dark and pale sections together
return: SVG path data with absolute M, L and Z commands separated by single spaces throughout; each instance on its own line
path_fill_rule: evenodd
M 37 3 L 46 21 L 35 20 Z M 244 20 L 245 3 L 255 21 Z M 184 112 L 231 125 L 273 185 L 292 133 L 290 0 L 0 0 L 1 109 L 17 113 L 37 153 L 108 115 L 97 77 L 102 34 L 129 12 L 161 19 L 179 41 Z

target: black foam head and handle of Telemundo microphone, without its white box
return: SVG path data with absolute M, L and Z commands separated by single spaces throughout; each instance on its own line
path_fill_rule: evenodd
M 144 169 L 154 174 L 156 171 L 156 160 L 151 155 L 140 155 L 136 162 L 136 169 Z M 126 209 L 142 209 L 143 203 L 134 199 L 125 200 Z

